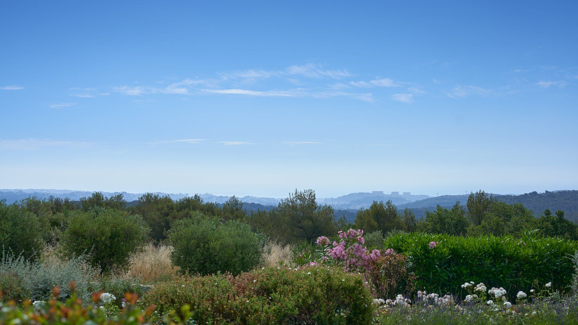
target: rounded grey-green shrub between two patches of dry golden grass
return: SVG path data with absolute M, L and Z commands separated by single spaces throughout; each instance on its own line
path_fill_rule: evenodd
M 249 224 L 200 213 L 177 221 L 169 231 L 174 265 L 182 272 L 234 275 L 257 267 L 262 259 L 262 237 L 251 231 Z

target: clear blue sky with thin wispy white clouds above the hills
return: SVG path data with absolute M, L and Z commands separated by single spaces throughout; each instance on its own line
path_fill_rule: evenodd
M 0 3 L 0 188 L 577 189 L 578 3 Z

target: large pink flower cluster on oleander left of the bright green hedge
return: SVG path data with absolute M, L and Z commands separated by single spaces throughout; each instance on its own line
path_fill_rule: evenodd
M 369 270 L 372 268 L 371 262 L 380 257 L 378 249 L 369 253 L 363 245 L 365 243 L 363 230 L 339 231 L 339 238 L 339 243 L 333 242 L 333 248 L 328 248 L 327 254 L 337 263 L 343 263 L 347 271 Z

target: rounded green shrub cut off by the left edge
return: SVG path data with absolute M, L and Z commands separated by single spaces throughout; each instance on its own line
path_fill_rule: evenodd
M 6 253 L 36 260 L 42 250 L 43 232 L 34 213 L 0 201 L 0 258 Z

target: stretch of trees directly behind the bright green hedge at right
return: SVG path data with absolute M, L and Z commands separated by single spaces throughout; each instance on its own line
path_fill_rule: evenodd
M 578 239 L 578 225 L 566 219 L 564 211 L 545 210 L 542 216 L 535 217 L 523 204 L 506 204 L 481 190 L 469 195 L 466 206 L 460 205 L 460 201 L 451 209 L 438 205 L 417 221 L 408 208 L 398 212 L 390 201 L 373 202 L 369 209 L 358 212 L 355 225 L 366 232 L 379 230 L 383 235 L 396 229 L 475 237 L 490 234 L 519 237 L 524 230 L 538 230 L 547 237 Z

